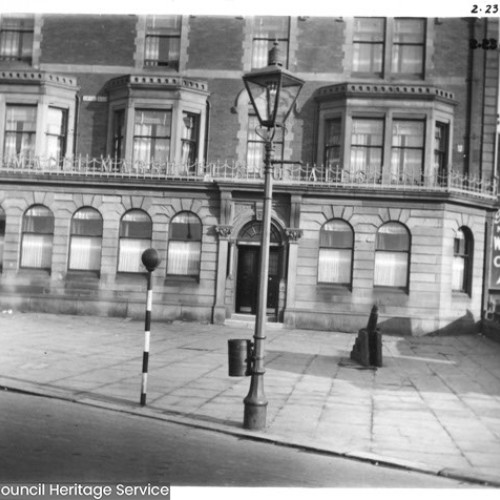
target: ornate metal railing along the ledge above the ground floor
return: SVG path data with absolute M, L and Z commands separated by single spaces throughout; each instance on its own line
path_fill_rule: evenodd
M 14 157 L 0 165 L 3 174 L 110 177 L 116 179 L 182 180 L 199 182 L 263 182 L 262 170 L 239 162 L 216 161 L 193 165 L 173 162 L 127 162 L 111 157 L 75 158 Z M 347 170 L 341 165 L 309 165 L 276 162 L 274 181 L 282 184 L 323 186 L 337 189 L 386 189 L 398 191 L 459 192 L 496 199 L 497 179 L 485 180 L 451 170 L 424 175 L 420 171 L 383 173 L 377 169 Z

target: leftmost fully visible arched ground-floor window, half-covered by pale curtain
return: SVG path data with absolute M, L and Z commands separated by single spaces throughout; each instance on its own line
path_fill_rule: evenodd
M 43 205 L 34 205 L 23 217 L 21 267 L 50 270 L 54 239 L 54 216 Z

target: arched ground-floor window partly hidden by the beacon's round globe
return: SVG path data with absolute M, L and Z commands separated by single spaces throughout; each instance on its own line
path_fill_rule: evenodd
M 141 256 L 151 247 L 153 223 L 151 217 L 139 209 L 129 210 L 120 221 L 118 272 L 143 273 Z

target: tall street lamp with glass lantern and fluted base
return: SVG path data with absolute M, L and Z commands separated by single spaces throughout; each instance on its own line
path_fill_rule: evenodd
M 272 154 L 276 128 L 283 127 L 293 109 L 304 80 L 283 69 L 278 43 L 269 52 L 268 66 L 243 75 L 245 88 L 261 127 L 267 129 L 257 135 L 265 142 L 264 157 L 264 213 L 259 268 L 257 314 L 255 318 L 254 349 L 250 390 L 244 399 L 243 426 L 260 430 L 266 427 L 267 399 L 264 393 L 264 340 L 266 329 L 267 281 L 269 271 L 269 244 L 271 237 L 271 208 L 273 197 Z

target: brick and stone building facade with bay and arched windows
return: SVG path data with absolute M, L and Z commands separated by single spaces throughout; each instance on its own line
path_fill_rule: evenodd
M 0 19 L 0 305 L 255 312 L 263 144 L 242 75 L 278 40 L 306 83 L 275 141 L 268 315 L 477 327 L 497 210 L 498 19 Z M 490 43 L 488 42 L 488 43 Z

